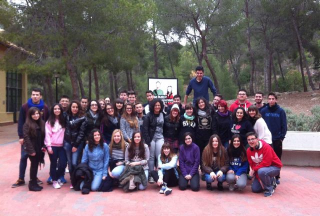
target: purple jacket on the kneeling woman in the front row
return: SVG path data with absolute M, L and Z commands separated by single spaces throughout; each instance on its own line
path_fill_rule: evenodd
M 183 176 L 198 173 L 200 164 L 200 149 L 193 142 L 190 145 L 181 145 L 179 154 L 179 166 Z

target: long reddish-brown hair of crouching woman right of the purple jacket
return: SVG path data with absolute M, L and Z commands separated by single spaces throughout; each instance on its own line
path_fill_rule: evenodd
M 202 152 L 203 165 L 211 166 L 211 164 L 212 164 L 212 158 L 213 158 L 212 139 L 213 138 L 217 138 L 217 140 L 218 140 L 217 162 L 218 162 L 219 166 L 223 166 L 224 165 L 224 159 L 225 159 L 224 158 L 225 149 L 222 146 L 220 137 L 218 135 L 216 135 L 216 134 L 213 134 L 213 135 L 210 136 L 208 144 L 203 149 L 203 152 Z

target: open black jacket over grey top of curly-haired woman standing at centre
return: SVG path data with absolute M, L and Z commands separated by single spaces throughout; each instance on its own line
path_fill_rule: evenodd
M 163 113 L 163 120 L 165 113 Z M 142 124 L 142 136 L 144 139 L 145 144 L 150 146 L 150 142 L 152 141 L 154 132 L 156 128 L 156 116 L 153 114 L 153 112 L 148 112 L 144 119 L 143 119 L 143 124 Z

